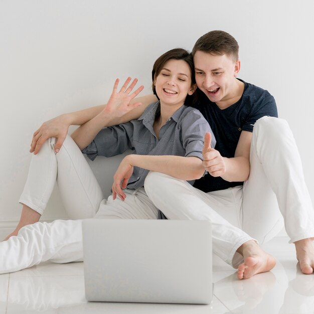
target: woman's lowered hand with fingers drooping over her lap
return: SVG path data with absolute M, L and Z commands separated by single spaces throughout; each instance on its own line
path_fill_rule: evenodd
M 133 173 L 133 166 L 130 163 L 129 155 L 125 156 L 121 161 L 117 171 L 113 176 L 112 197 L 115 200 L 118 196 L 122 201 L 125 200 L 126 195 L 122 191 L 126 188 L 129 179 Z

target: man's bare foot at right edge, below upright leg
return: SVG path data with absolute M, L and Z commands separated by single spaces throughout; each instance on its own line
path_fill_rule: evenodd
M 296 258 L 299 261 L 303 274 L 311 274 L 314 270 L 314 244 L 313 238 L 294 242 Z

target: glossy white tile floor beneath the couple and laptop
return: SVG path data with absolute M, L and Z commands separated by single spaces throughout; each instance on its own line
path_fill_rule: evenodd
M 210 305 L 87 302 L 83 263 L 42 263 L 0 275 L 0 313 L 313 313 L 314 274 L 300 273 L 294 246 L 287 241 L 277 237 L 265 245 L 277 258 L 276 267 L 246 280 L 237 280 L 233 268 L 214 258 Z

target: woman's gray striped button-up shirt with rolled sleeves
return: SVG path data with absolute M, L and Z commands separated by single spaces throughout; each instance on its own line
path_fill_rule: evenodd
M 111 157 L 127 149 L 140 155 L 195 156 L 203 160 L 205 132 L 212 133 L 212 147 L 215 146 L 214 134 L 199 110 L 183 105 L 162 126 L 157 138 L 153 122 L 159 114 L 158 101 L 150 104 L 137 120 L 102 129 L 82 152 L 91 160 L 97 155 Z M 127 189 L 143 187 L 148 172 L 134 167 Z

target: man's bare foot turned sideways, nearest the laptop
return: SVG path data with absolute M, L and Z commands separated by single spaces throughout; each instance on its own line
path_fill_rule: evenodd
M 263 251 L 254 240 L 243 243 L 237 252 L 244 258 L 244 262 L 238 267 L 238 279 L 250 278 L 260 272 L 269 271 L 276 265 L 276 259 Z

